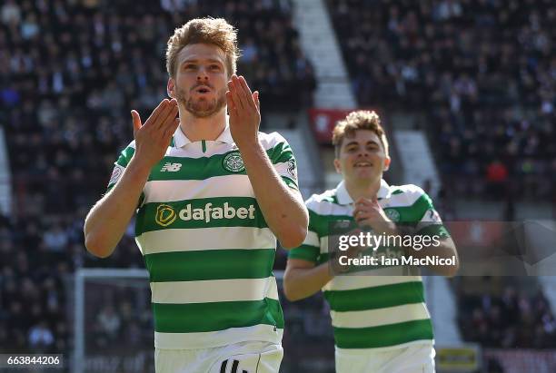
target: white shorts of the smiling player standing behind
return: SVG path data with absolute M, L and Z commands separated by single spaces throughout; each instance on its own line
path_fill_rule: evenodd
M 369 352 L 336 348 L 336 373 L 434 373 L 432 344 Z

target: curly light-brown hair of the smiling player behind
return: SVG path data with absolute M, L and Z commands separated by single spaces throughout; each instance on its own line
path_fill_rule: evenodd
M 338 121 L 333 130 L 333 145 L 336 157 L 340 154 L 343 139 L 352 137 L 356 131 L 369 130 L 379 137 L 384 147 L 384 152 L 388 154 L 388 140 L 381 125 L 381 118 L 377 113 L 369 112 L 368 110 L 359 110 L 347 114 L 345 119 Z

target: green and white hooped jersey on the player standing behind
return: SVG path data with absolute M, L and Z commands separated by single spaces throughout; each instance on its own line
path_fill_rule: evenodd
M 448 236 L 431 199 L 421 188 L 389 186 L 382 181 L 377 198 L 396 224 L 411 226 L 417 233 Z M 326 262 L 329 223 L 352 221 L 352 203 L 343 182 L 334 190 L 313 194 L 305 202 L 309 232 L 303 245 L 291 250 L 289 257 L 315 265 Z M 432 343 L 432 322 L 421 276 L 336 276 L 323 287 L 323 296 L 330 304 L 335 344 L 340 350 Z

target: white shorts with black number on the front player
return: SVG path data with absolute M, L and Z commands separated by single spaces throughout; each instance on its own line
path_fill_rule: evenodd
M 242 342 L 204 349 L 154 350 L 156 373 L 278 373 L 282 345 Z

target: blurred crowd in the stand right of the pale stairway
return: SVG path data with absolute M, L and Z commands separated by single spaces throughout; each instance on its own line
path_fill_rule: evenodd
M 422 113 L 457 196 L 556 201 L 556 3 L 328 5 L 360 105 Z

